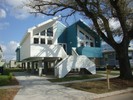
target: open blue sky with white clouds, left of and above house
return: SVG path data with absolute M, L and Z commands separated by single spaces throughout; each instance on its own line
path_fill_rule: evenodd
M 15 49 L 28 28 L 52 18 L 28 13 L 28 8 L 21 8 L 22 1 L 26 0 L 0 0 L 0 45 L 3 49 L 3 58 L 7 61 L 15 59 Z M 72 24 L 80 18 L 71 17 L 67 23 Z M 63 23 L 66 24 L 64 21 Z

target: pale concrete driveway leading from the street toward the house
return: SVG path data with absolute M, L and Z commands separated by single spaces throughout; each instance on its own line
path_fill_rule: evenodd
M 90 100 L 96 94 L 71 89 L 47 81 L 47 77 L 14 73 L 21 89 L 14 100 Z

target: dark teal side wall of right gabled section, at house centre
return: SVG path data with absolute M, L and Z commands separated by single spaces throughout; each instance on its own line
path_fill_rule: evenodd
M 73 24 L 66 29 L 67 53 L 72 54 L 72 47 L 77 47 L 77 24 Z

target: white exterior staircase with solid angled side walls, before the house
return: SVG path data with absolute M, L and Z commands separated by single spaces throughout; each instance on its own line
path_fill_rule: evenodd
M 74 49 L 72 49 L 74 50 Z M 75 53 L 74 53 L 75 52 Z M 96 74 L 95 63 L 88 59 L 85 55 L 77 55 L 74 50 L 73 55 L 66 56 L 55 66 L 55 76 L 58 78 L 65 77 L 72 69 L 85 68 L 90 73 Z

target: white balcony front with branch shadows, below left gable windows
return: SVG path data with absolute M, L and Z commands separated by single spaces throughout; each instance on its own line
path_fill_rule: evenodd
M 31 45 L 31 57 L 65 57 L 66 55 L 60 45 Z

